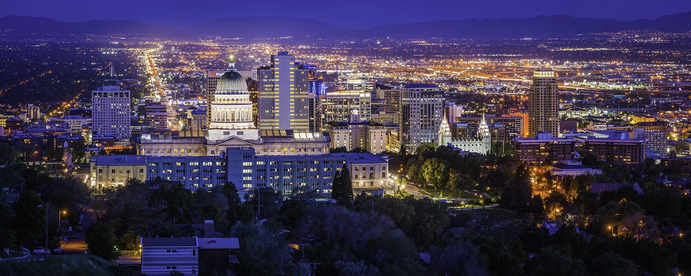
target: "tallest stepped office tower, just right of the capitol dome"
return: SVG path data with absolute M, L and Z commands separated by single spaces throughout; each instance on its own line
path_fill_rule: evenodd
M 309 75 L 309 69 L 296 63 L 287 51 L 272 55 L 271 66 L 257 69 L 259 128 L 309 131 Z

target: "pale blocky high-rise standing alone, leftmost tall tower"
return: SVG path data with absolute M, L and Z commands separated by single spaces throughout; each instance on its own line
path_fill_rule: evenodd
M 93 137 L 112 136 L 115 144 L 129 145 L 130 92 L 120 86 L 101 86 L 91 92 Z

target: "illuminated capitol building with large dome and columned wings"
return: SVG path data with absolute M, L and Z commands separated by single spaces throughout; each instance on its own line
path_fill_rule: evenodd
M 320 155 L 328 153 L 330 139 L 323 133 L 259 130 L 252 120 L 252 101 L 245 78 L 231 56 L 216 91 L 207 91 L 207 130 L 204 135 L 173 132 L 144 134 L 137 154 L 147 156 L 218 156 L 227 148 L 254 148 L 256 155 Z

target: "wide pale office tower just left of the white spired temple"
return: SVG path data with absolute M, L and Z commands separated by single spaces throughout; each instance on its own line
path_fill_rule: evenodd
M 433 83 L 410 83 L 401 90 L 401 145 L 413 152 L 436 142 L 444 112 L 444 91 Z

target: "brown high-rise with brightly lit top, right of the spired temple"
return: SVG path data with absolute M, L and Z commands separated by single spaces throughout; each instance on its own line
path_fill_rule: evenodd
M 533 72 L 533 85 L 528 95 L 529 137 L 540 132 L 559 134 L 559 97 L 556 76 L 551 68 Z

